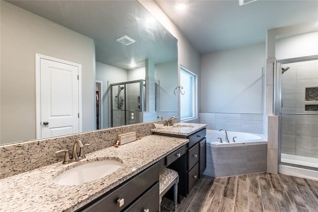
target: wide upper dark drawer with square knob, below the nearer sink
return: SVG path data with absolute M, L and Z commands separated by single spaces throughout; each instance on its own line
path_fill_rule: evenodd
M 88 206 L 84 206 L 79 211 L 83 212 L 120 212 L 133 203 L 147 189 L 159 181 L 159 172 L 162 169 L 159 163 L 156 163 L 146 171 L 129 180 L 124 185 L 114 191 L 102 195 Z M 159 190 L 158 190 L 159 193 Z M 123 200 L 122 206 L 118 203 Z M 159 201 L 159 198 L 158 198 Z

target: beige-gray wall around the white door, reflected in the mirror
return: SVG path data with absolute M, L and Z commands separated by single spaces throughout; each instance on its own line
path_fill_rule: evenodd
M 82 129 L 94 129 L 94 41 L 5 1 L 0 7 L 0 142 L 36 138 L 36 53 L 82 65 Z

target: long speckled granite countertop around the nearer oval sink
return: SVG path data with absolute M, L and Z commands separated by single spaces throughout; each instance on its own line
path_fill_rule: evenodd
M 71 164 L 62 161 L 0 180 L 1 212 L 71 212 L 110 191 L 145 168 L 158 162 L 188 139 L 149 135 L 118 148 L 109 147 L 88 153 Z M 101 159 L 121 160 L 123 165 L 112 174 L 77 186 L 60 186 L 52 179 L 77 163 Z M 134 171 L 133 171 L 134 170 Z

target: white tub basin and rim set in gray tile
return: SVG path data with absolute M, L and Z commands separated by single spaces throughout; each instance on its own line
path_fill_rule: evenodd
M 225 147 L 225 146 L 242 146 L 242 145 L 257 145 L 257 144 L 267 144 L 267 140 L 263 134 L 249 133 L 249 132 L 236 132 L 227 131 L 230 143 L 225 142 L 225 132 L 219 130 L 207 129 L 207 145 L 215 147 Z M 223 143 L 220 143 L 222 138 Z M 235 143 L 232 142 L 233 137 L 235 138 Z

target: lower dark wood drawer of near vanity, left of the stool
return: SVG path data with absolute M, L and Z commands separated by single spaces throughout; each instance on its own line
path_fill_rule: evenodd
M 159 207 L 159 183 L 156 183 L 125 212 L 159 212 Z

